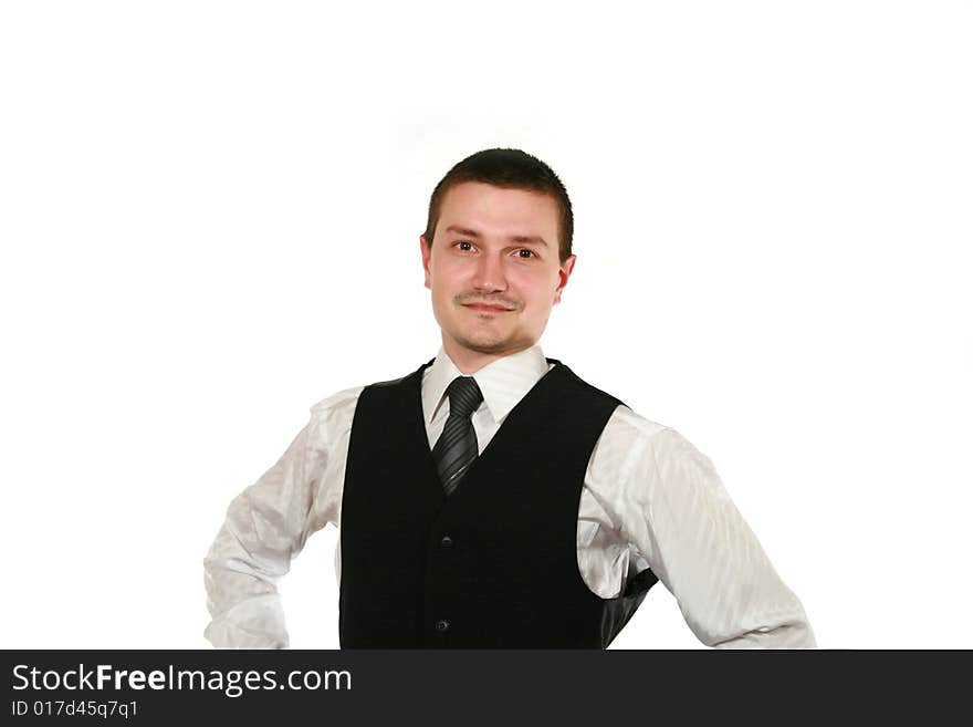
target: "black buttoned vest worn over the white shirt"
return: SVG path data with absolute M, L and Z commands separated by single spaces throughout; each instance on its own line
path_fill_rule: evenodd
M 423 370 L 366 386 L 342 499 L 342 648 L 604 648 L 658 580 L 603 599 L 577 562 L 588 459 L 617 398 L 561 362 L 446 497 Z

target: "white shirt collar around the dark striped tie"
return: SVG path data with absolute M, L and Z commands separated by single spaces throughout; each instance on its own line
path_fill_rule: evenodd
M 540 345 L 533 345 L 493 361 L 472 374 L 483 393 L 483 403 L 500 424 L 510 411 L 550 370 Z M 457 376 L 464 376 L 440 346 L 436 361 L 422 377 L 422 414 L 430 423 L 446 401 L 446 388 Z

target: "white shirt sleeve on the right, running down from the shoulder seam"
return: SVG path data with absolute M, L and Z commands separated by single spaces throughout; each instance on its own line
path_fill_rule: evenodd
M 669 427 L 636 442 L 625 498 L 632 507 L 617 517 L 695 636 L 715 648 L 815 648 L 804 607 L 712 461 Z

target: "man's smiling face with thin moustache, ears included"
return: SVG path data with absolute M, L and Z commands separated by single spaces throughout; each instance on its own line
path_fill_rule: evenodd
M 574 268 L 558 258 L 553 197 L 464 181 L 447 191 L 435 239 L 419 238 L 448 349 L 509 355 L 541 339 Z

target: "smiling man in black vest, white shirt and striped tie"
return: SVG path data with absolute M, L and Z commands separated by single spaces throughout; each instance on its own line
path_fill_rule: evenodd
M 712 463 L 541 352 L 572 236 L 529 154 L 446 175 L 419 238 L 442 347 L 313 406 L 232 501 L 205 561 L 210 642 L 287 646 L 275 581 L 333 522 L 343 648 L 604 648 L 659 580 L 704 644 L 815 646 Z

